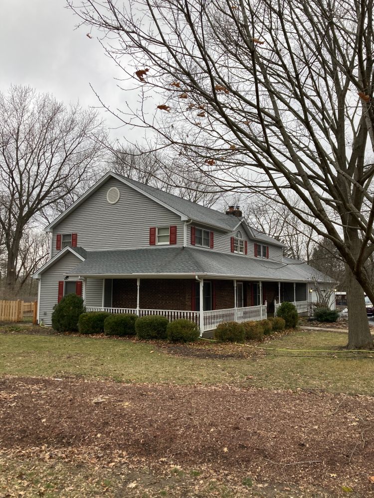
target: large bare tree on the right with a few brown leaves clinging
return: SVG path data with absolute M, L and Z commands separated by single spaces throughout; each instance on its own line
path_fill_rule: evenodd
M 374 302 L 373 2 L 68 4 L 141 87 L 124 123 L 153 130 L 197 171 L 208 165 L 222 189 L 271 188 L 333 242 L 347 268 L 349 347 L 373 348 L 362 289 Z

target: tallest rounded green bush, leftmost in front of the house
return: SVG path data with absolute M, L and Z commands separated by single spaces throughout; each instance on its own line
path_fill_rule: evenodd
M 52 327 L 57 332 L 76 332 L 79 315 L 85 311 L 83 299 L 76 294 L 68 294 L 53 307 Z

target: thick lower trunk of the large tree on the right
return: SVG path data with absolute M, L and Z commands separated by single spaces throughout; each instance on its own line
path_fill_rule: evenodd
M 348 348 L 374 349 L 366 313 L 364 290 L 356 280 L 351 268 L 346 265 L 348 301 Z

